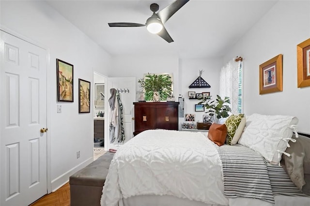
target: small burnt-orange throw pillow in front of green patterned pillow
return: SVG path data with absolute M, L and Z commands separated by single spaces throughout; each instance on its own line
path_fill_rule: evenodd
M 225 124 L 211 124 L 208 132 L 208 138 L 218 146 L 224 145 L 227 136 L 227 127 Z

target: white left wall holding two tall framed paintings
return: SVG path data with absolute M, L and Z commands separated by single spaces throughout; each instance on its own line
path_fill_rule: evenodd
M 93 107 L 78 113 L 78 78 L 93 83 L 93 71 L 109 75 L 107 52 L 43 1 L 0 1 L 0 24 L 45 45 L 50 52 L 49 91 L 51 102 L 48 135 L 51 146 L 52 190 L 93 161 Z M 74 65 L 74 103 L 57 102 L 56 59 Z M 93 84 L 92 88 L 93 89 Z M 93 105 L 93 93 L 91 93 Z M 57 114 L 57 105 L 62 113 Z M 80 158 L 77 159 L 77 151 Z

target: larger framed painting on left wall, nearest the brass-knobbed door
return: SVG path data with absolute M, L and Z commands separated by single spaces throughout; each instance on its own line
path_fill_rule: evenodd
M 73 65 L 56 59 L 57 101 L 73 102 Z

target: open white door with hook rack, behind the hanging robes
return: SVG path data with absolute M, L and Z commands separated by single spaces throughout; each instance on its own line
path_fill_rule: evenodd
M 123 122 L 124 122 L 124 134 L 125 134 L 125 142 L 130 140 L 133 137 L 133 113 L 134 113 L 134 105 L 133 102 L 136 101 L 136 77 L 109 77 L 108 78 L 108 98 L 111 97 L 110 89 L 115 88 L 120 91 L 120 99 L 123 104 Z M 126 90 L 126 92 L 124 91 Z M 129 92 L 128 92 L 129 90 Z M 108 102 L 108 110 L 109 113 L 109 102 Z M 109 120 L 109 116 L 108 116 Z M 109 121 L 108 128 L 109 128 Z M 108 132 L 109 136 L 109 132 Z M 105 138 L 108 141 L 105 142 L 105 145 L 108 145 L 109 148 L 109 137 Z M 108 144 L 107 144 L 108 143 Z

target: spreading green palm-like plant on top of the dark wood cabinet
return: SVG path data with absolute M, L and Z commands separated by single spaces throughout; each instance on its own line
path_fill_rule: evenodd
M 168 74 L 148 73 L 144 79 L 139 79 L 138 83 L 140 83 L 140 87 L 144 88 L 146 101 L 166 101 L 172 93 L 171 76 Z

